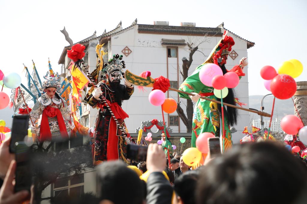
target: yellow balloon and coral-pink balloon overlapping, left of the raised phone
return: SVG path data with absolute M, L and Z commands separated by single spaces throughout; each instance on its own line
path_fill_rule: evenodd
M 212 133 L 203 132 L 196 139 L 196 148 L 190 147 L 182 154 L 182 160 L 189 166 L 197 165 L 202 160 L 202 155 L 208 154 L 208 139 L 215 137 Z

